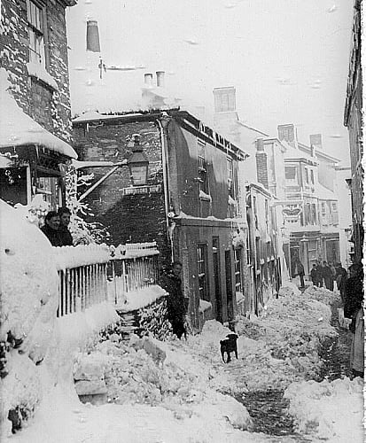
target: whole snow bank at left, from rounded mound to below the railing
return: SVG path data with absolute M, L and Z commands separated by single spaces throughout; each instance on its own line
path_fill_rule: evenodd
M 51 244 L 40 229 L 3 200 L 0 242 L 3 441 L 35 414 L 54 385 L 72 387 L 74 354 L 118 315 L 104 303 L 57 319 L 58 272 Z M 75 395 L 73 389 L 67 392 Z

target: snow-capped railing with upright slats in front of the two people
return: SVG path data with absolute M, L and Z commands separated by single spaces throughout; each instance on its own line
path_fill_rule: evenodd
M 63 246 L 58 262 L 58 316 L 82 312 L 103 301 L 122 305 L 130 291 L 158 281 L 156 243 Z

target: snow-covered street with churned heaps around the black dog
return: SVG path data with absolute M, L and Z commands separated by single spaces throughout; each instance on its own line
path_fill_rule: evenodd
M 182 341 L 95 341 L 74 354 L 74 377 L 96 386 L 102 380 L 104 400 L 83 404 L 73 377 L 55 386 L 42 377 L 47 392 L 34 418 L 7 441 L 361 442 L 361 380 L 319 383 L 318 352 L 338 336 L 330 324 L 338 301 L 330 291 L 289 284 L 261 318 L 238 318 L 238 360 L 228 364 L 218 345 L 230 330 L 215 321 Z

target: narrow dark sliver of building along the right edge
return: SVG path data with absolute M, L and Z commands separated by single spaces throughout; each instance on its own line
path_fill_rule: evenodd
M 363 249 L 363 169 L 362 169 L 362 65 L 361 0 L 354 1 L 354 25 L 349 60 L 344 124 L 348 128 L 351 154 L 351 195 L 354 260 L 362 260 Z

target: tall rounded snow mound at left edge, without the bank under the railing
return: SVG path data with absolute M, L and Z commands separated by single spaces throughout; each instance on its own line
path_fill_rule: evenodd
M 49 241 L 0 201 L 2 361 L 1 437 L 31 416 L 42 399 L 36 364 L 43 361 L 58 307 L 58 274 Z M 8 414 L 11 411 L 12 423 Z

